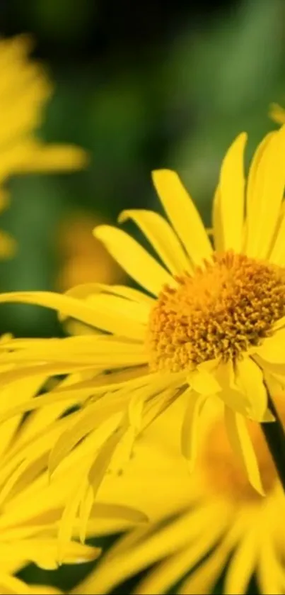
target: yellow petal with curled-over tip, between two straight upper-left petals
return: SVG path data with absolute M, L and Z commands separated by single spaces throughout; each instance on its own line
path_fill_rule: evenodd
M 139 226 L 172 274 L 181 274 L 192 268 L 173 229 L 161 215 L 153 211 L 130 210 L 123 211 L 119 221 L 122 223 L 128 218 Z

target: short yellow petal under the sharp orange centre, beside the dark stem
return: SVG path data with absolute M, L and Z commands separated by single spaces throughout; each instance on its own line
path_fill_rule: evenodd
M 267 391 L 260 367 L 250 358 L 244 357 L 236 363 L 236 382 L 250 403 L 252 419 L 263 421 L 267 410 Z

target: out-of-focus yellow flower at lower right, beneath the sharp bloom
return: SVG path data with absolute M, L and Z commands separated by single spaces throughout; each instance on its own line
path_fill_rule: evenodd
M 284 395 L 277 404 L 284 419 Z M 199 465 L 192 474 L 175 440 L 182 422 L 175 403 L 141 438 L 125 473 L 106 477 L 101 499 L 132 502 L 152 522 L 122 536 L 74 594 L 109 592 L 142 570 L 136 594 L 205 595 L 222 574 L 223 587 L 215 592 L 245 593 L 255 574 L 260 593 L 284 593 L 285 499 L 260 427 L 250 422 L 265 498 L 248 484 L 231 450 L 220 404 L 203 414 Z M 104 529 L 99 521 L 98 533 Z

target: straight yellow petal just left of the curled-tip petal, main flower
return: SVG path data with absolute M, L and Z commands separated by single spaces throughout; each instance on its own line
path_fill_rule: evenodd
M 127 274 L 151 294 L 158 295 L 165 284 L 173 285 L 173 277 L 124 231 L 98 226 L 93 233 Z

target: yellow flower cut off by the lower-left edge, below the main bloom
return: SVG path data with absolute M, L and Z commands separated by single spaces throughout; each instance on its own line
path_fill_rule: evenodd
M 2 339 L 4 341 L 4 339 Z M 42 389 L 45 378 L 33 377 L 12 382 L 0 391 L 0 411 L 6 411 L 11 399 L 21 403 Z M 50 411 L 37 411 L 23 421 L 16 416 L 3 423 L 0 433 L 0 592 L 32 594 L 35 586 L 25 584 L 16 573 L 34 562 L 45 569 L 57 568 L 59 562 L 81 564 L 98 556 L 97 548 L 67 539 L 59 550 L 59 518 L 64 501 L 64 482 L 48 481 L 47 456 L 40 438 L 47 444 L 58 432 L 54 420 L 60 414 L 56 404 Z M 27 460 L 28 451 L 38 446 L 37 460 Z M 54 589 L 40 587 L 42 593 Z

